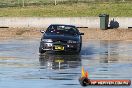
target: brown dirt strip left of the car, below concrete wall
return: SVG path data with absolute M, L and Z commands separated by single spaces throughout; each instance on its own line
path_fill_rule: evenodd
M 39 38 L 41 37 L 39 28 L 1 28 L 0 40 L 11 38 Z

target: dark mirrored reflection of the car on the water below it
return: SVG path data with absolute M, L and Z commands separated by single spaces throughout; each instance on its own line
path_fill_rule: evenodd
M 80 55 L 45 54 L 40 55 L 39 61 L 46 69 L 70 69 L 81 66 Z

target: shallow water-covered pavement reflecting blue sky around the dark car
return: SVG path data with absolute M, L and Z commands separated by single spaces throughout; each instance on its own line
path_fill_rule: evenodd
M 91 79 L 132 79 L 132 41 L 91 40 L 83 43 L 79 55 L 39 55 L 39 41 L 0 42 L 0 88 L 81 88 L 82 66 Z

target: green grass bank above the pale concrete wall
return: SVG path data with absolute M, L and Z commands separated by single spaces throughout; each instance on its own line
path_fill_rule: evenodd
M 87 17 L 107 13 L 131 17 L 132 3 L 74 3 L 0 8 L 1 17 Z

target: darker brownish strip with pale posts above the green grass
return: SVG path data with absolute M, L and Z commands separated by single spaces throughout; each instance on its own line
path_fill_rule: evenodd
M 0 8 L 40 6 L 47 4 L 69 4 L 69 3 L 100 3 L 100 2 L 132 2 L 132 0 L 0 0 Z

